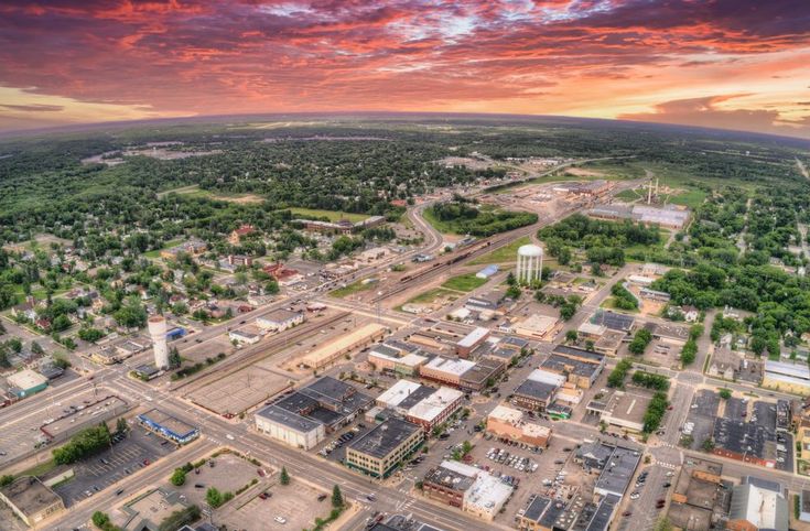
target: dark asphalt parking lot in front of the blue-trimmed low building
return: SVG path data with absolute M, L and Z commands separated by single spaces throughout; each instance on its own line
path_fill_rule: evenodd
M 65 506 L 71 507 L 165 457 L 174 448 L 168 441 L 133 424 L 129 435 L 111 448 L 72 465 L 74 478 L 56 486 L 54 490 L 62 496 Z

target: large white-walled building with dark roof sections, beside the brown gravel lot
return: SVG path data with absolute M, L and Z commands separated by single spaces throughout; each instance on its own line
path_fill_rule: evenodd
M 374 399 L 356 387 L 326 376 L 257 411 L 256 429 L 291 446 L 310 449 L 372 403 Z

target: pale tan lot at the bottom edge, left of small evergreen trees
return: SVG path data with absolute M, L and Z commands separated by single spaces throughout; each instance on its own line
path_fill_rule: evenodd
M 217 522 L 228 529 L 249 531 L 309 529 L 315 518 L 327 517 L 332 509 L 328 492 L 316 490 L 295 478 L 288 486 L 274 485 L 268 494 L 271 496 L 266 500 L 257 494 L 249 500 L 228 503 L 217 514 Z M 321 495 L 327 495 L 323 501 L 317 499 Z M 283 518 L 285 523 L 277 522 L 276 517 Z

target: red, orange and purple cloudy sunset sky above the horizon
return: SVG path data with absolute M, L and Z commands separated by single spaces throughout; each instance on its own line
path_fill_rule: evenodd
M 810 138 L 810 1 L 0 2 L 3 130 L 352 110 Z

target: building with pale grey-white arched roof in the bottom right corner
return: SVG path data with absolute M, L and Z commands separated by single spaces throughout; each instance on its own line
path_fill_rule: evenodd
M 788 501 L 780 484 L 746 476 L 734 487 L 726 529 L 788 531 Z

